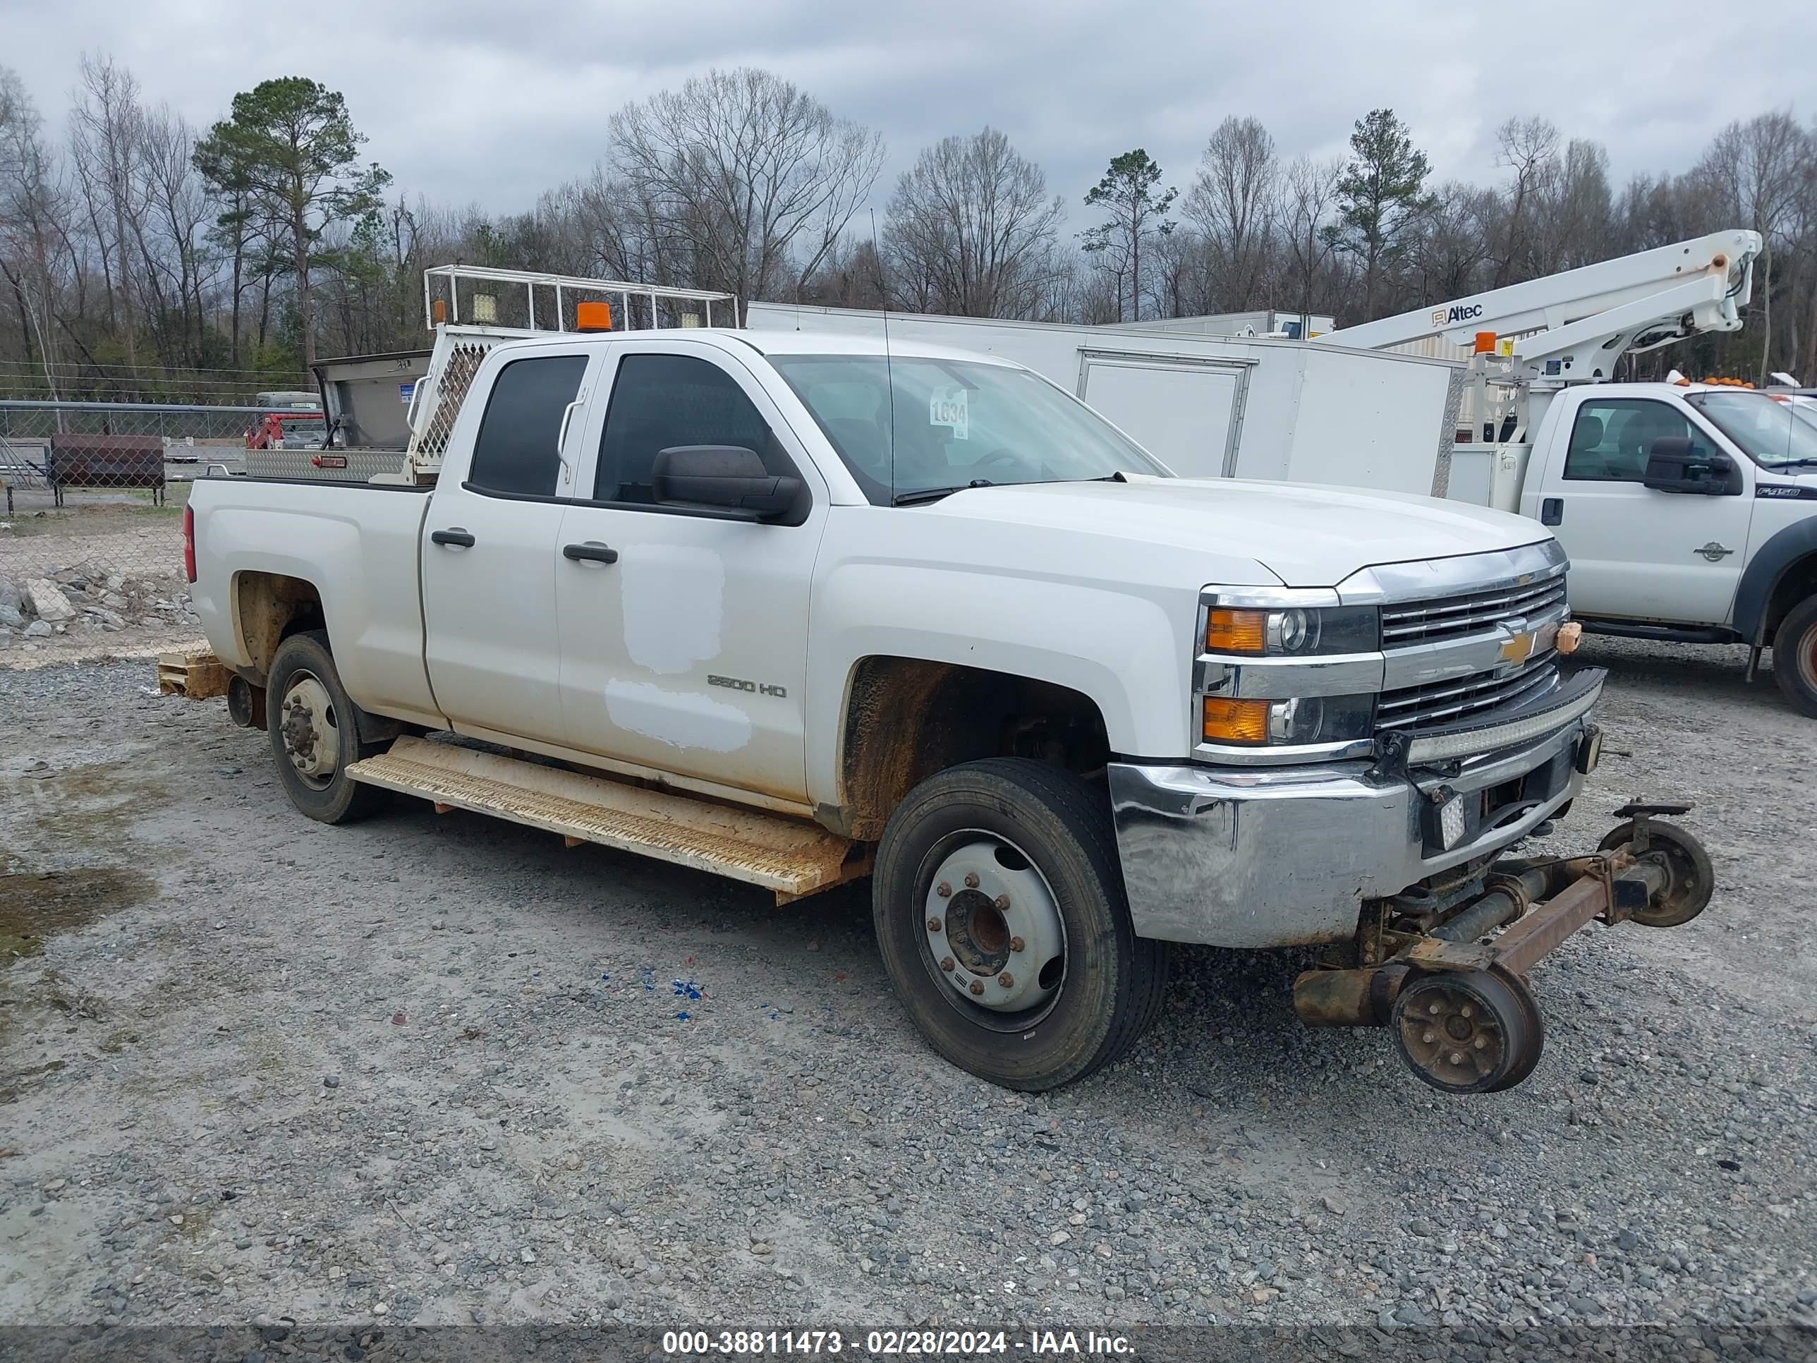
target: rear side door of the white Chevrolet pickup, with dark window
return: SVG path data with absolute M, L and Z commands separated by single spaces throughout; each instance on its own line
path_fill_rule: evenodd
M 598 347 L 531 351 L 458 418 L 451 443 L 471 438 L 472 460 L 443 467 L 422 562 L 429 683 L 460 732 L 561 741 L 556 563 L 574 451 L 560 442 L 580 438 L 569 413 L 585 411 L 598 363 Z

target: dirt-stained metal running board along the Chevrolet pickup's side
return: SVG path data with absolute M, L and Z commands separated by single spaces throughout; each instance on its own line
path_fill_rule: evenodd
M 347 774 L 367 785 L 471 809 L 589 841 L 763 885 L 778 903 L 870 874 L 861 843 L 814 823 L 645 791 L 454 743 L 400 738 Z

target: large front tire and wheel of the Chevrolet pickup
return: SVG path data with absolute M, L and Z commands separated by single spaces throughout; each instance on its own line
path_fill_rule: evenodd
M 1123 1056 L 1159 1012 L 1167 945 L 1137 938 L 1105 796 L 1021 758 L 943 771 L 883 829 L 883 965 L 959 1069 L 1043 1090 Z

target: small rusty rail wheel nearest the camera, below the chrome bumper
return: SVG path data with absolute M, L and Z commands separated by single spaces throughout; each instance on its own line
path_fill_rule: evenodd
M 1506 970 L 1417 976 L 1401 987 L 1392 1027 L 1401 1060 L 1446 1094 L 1517 1085 L 1546 1043 L 1534 996 Z

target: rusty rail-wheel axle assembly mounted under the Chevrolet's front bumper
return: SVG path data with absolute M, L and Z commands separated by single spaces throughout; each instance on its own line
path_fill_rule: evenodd
M 1592 856 L 1495 861 L 1461 898 L 1375 901 L 1352 967 L 1306 970 L 1294 1012 L 1308 1027 L 1388 1027 L 1401 1058 L 1448 1094 L 1512 1089 L 1539 1063 L 1544 1023 L 1526 972 L 1592 920 L 1679 927 L 1710 903 L 1710 854 L 1630 803 Z

